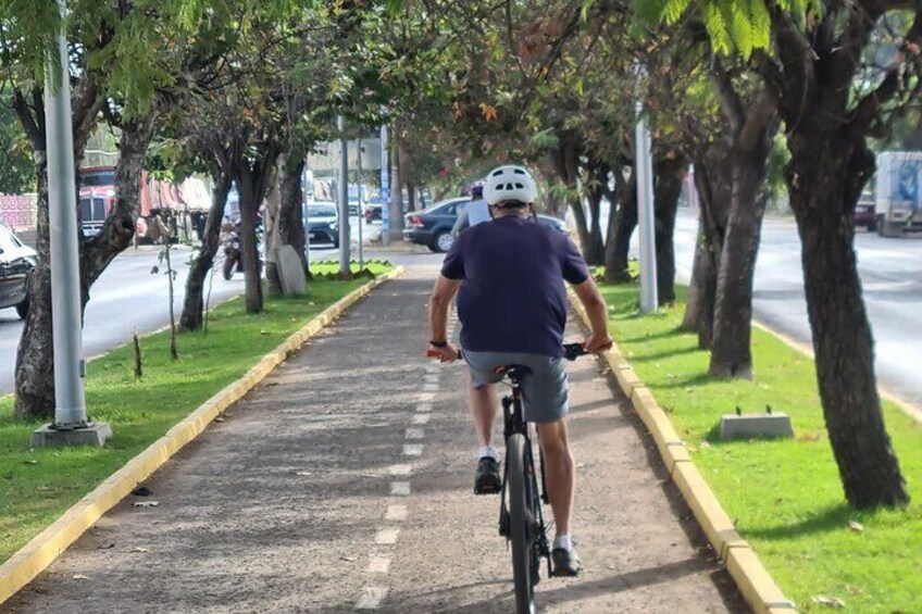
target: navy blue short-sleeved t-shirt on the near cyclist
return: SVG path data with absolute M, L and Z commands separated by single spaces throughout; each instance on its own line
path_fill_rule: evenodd
M 499 217 L 461 233 L 441 274 L 462 280 L 462 348 L 548 356 L 562 355 L 563 281 L 582 284 L 589 276 L 565 235 L 519 217 Z

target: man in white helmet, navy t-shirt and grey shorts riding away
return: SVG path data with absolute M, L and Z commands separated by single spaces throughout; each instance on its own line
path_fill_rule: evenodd
M 493 220 L 461 233 L 451 247 L 429 301 L 431 351 L 443 362 L 457 360 L 446 324 L 458 292 L 461 348 L 471 375 L 469 404 L 479 441 L 474 491 L 497 492 L 499 454 L 493 447 L 497 412 L 494 369 L 523 364 L 525 419 L 537 425 L 545 455 L 547 490 L 557 536 L 553 575 L 580 572 L 570 539 L 575 472 L 566 438 L 566 372 L 563 327 L 564 281 L 573 286 L 591 323 L 588 352 L 611 347 L 605 301 L 586 262 L 569 237 L 535 221 L 534 179 L 519 166 L 500 166 L 487 175 L 484 195 Z

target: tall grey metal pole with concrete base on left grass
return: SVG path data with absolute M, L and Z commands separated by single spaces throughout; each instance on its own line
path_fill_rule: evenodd
M 65 33 L 66 7 L 58 1 L 61 32 L 45 71 L 48 218 L 51 251 L 51 318 L 54 348 L 54 422 L 32 434 L 32 446 L 102 446 L 112 435 L 105 423 L 88 423 L 84 399 L 80 270 L 71 85 Z M 52 53 L 55 53 L 55 59 Z

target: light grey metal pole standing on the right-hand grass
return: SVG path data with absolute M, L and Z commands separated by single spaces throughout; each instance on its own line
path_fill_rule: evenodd
M 653 212 L 653 164 L 650 131 L 643 116 L 644 105 L 637 100 L 637 128 L 634 134 L 637 173 L 637 224 L 640 238 L 640 313 L 651 313 L 659 305 L 657 297 L 657 238 Z

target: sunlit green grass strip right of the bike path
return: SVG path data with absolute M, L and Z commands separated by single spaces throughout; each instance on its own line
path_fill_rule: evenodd
M 752 331 L 753 381 L 712 380 L 709 354 L 682 333 L 685 305 L 638 315 L 636 286 L 602 287 L 610 327 L 637 375 L 669 413 L 695 464 L 739 532 L 801 612 L 922 612 L 922 426 L 892 403 L 884 415 L 913 503 L 855 512 L 845 503 L 825 433 L 811 359 Z M 685 300 L 680 289 L 681 301 Z M 723 442 L 722 414 L 771 405 L 794 424 L 790 440 Z M 849 528 L 855 521 L 863 530 Z M 858 528 L 858 527 L 856 527 Z

